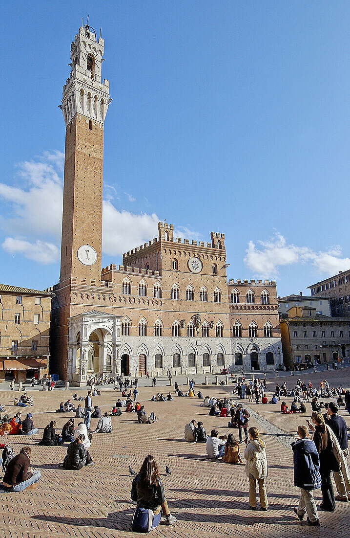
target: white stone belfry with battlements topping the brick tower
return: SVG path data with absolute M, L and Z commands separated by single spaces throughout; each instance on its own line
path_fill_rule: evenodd
M 71 73 L 60 105 L 66 127 L 76 113 L 103 124 L 111 102 L 110 81 L 101 82 L 105 42 L 90 30 L 80 27 L 70 47 Z

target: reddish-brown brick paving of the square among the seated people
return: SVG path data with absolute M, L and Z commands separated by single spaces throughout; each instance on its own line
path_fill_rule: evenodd
M 302 380 L 311 379 L 319 386 L 320 379 L 327 379 L 331 386 L 350 386 L 350 368 L 330 372 L 307 372 L 295 377 L 280 377 L 280 383 L 287 381 L 287 387 Z M 271 393 L 275 378 L 268 380 Z M 147 381 L 148 383 L 148 381 Z M 199 385 L 196 385 L 198 388 Z M 173 387 L 172 388 L 172 393 Z M 167 393 L 166 386 L 157 387 L 156 392 Z M 223 397 L 231 392 L 231 386 L 201 386 L 204 395 Z M 55 413 L 60 401 L 67 400 L 74 392 L 85 395 L 86 389 L 72 389 L 68 392 L 55 390 L 41 392 L 30 390 L 35 400 L 34 407 L 13 407 L 13 398 L 18 392 L 1 391 L 0 401 L 6 412 L 13 416 L 18 410 L 33 413 L 34 426 L 39 434 L 32 437 L 9 436 L 8 440 L 16 453 L 24 444 L 32 446 L 31 463 L 40 469 L 42 478 L 36 490 L 21 493 L 2 493 L 0 537 L 38 538 L 45 536 L 137 536 L 130 532 L 134 504 L 130 500 L 132 477 L 128 465 L 140 469 L 147 454 L 155 456 L 161 470 L 165 493 L 171 512 L 177 523 L 172 526 L 160 525 L 152 531 L 153 536 L 247 536 L 257 534 L 266 537 L 319 536 L 339 537 L 349 534 L 348 512 L 350 502 L 337 502 L 336 512 L 319 511 L 321 529 L 310 527 L 306 521 L 300 522 L 293 512 L 297 505 L 299 491 L 293 485 L 293 457 L 289 447 L 290 435 L 295 435 L 297 424 L 306 423 L 311 414 L 307 404 L 307 414 L 283 415 L 280 406 L 244 405 L 251 411 L 251 426 L 258 426 L 266 442 L 269 465 L 266 489 L 269 510 L 256 512 L 249 510 L 248 481 L 244 465 L 230 465 L 221 461 L 210 461 L 206 456 L 205 444 L 183 441 L 184 424 L 192 419 L 202 420 L 207 433 L 214 427 L 220 435 L 228 431 L 227 419 L 208 416 L 208 408 L 200 407 L 198 398 L 178 398 L 172 402 L 151 402 L 155 389 L 139 387 L 139 399 L 148 413 L 152 410 L 159 416 L 155 424 L 138 424 L 136 413 L 123 413 L 112 417 L 112 434 L 95 434 L 89 449 L 94 466 L 81 471 L 66 471 L 59 468 L 68 444 L 64 447 L 41 447 L 43 427 L 50 420 L 57 421 L 57 430 L 74 414 Z M 104 388 L 99 397 L 93 398 L 93 405 L 99 405 L 102 412 L 110 411 L 119 397 L 119 390 Z M 237 397 L 234 397 L 237 399 Z M 290 405 L 291 398 L 286 398 Z M 329 401 L 329 398 L 325 398 Z M 11 404 L 12 402 L 12 404 Z M 347 413 L 342 410 L 347 424 Z M 79 419 L 75 419 L 76 423 Z M 92 419 L 91 428 L 97 424 Z M 285 435 L 280 431 L 283 430 Z M 230 430 L 238 437 L 238 430 Z M 244 443 L 240 445 L 244 447 Z M 165 475 L 165 465 L 172 470 Z M 2 476 L 2 475 L 1 475 Z M 320 505 L 320 490 L 315 493 L 316 504 Z M 258 502 L 259 507 L 259 502 Z M 306 519 L 306 518 L 305 518 Z

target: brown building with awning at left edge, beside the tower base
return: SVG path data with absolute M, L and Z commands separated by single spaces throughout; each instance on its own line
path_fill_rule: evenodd
M 0 284 L 0 383 L 48 373 L 54 294 Z

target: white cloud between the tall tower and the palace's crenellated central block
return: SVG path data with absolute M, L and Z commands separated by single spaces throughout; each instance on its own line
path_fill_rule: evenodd
M 118 256 L 158 237 L 158 221 L 155 214 L 134 215 L 119 211 L 110 201 L 104 201 L 103 252 Z

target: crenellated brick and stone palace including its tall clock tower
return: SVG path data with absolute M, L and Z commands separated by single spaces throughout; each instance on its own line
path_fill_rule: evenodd
M 104 40 L 81 27 L 63 87 L 66 127 L 61 273 L 50 324 L 51 370 L 95 375 L 274 370 L 282 364 L 275 281 L 229 280 L 223 233 L 210 242 L 158 237 L 101 268 Z

